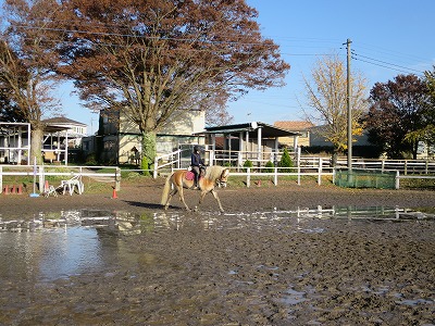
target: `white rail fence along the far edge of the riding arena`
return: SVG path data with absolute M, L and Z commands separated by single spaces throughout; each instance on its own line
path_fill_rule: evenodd
M 153 177 L 169 174 L 175 170 L 182 168 L 181 151 L 176 151 L 165 156 L 156 159 Z M 164 159 L 164 160 L 163 160 Z M 247 187 L 250 187 L 251 180 L 259 177 L 273 177 L 273 184 L 278 185 L 279 178 L 296 176 L 298 185 L 302 177 L 311 176 L 316 178 L 319 185 L 323 177 L 332 177 L 334 181 L 335 167 L 331 166 L 328 158 L 300 156 L 294 167 L 265 167 L 265 166 L 232 166 L 231 175 L 246 178 Z M 338 160 L 337 167 L 346 166 L 345 160 Z M 401 179 L 434 179 L 435 162 L 413 161 L 413 160 L 355 160 L 352 168 L 364 168 L 366 171 L 394 171 L 396 172 L 396 189 L 400 187 Z M 97 172 L 97 171 L 104 172 Z M 113 171 L 113 172 L 105 172 Z M 141 170 L 137 170 L 141 172 Z M 39 185 L 45 185 L 47 176 L 88 176 L 92 178 L 107 178 L 108 181 L 115 184 L 116 190 L 120 189 L 121 168 L 117 166 L 64 166 L 64 165 L 0 165 L 0 193 L 3 190 L 4 176 L 29 177 L 33 176 Z M 34 183 L 35 183 L 34 179 Z

